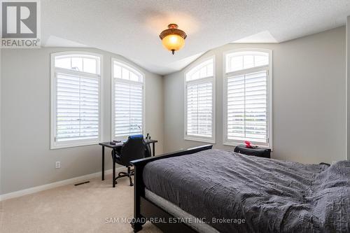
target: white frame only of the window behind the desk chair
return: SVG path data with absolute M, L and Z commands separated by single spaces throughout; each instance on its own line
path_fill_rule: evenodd
M 117 62 L 119 64 L 121 64 L 122 66 L 126 66 L 127 69 L 133 69 L 134 71 L 136 71 L 137 73 L 140 73 L 142 76 L 142 134 L 144 135 L 144 133 L 146 132 L 146 75 L 143 71 L 141 71 L 140 69 L 138 69 L 136 66 L 124 62 L 121 59 L 118 59 L 116 57 L 111 57 L 111 141 L 113 140 L 125 140 L 127 139 L 127 136 L 129 135 L 125 135 L 125 136 L 119 136 L 118 138 L 116 138 L 115 136 L 115 132 L 116 132 L 116 124 L 115 124 L 115 118 L 116 118 L 116 111 L 115 111 L 115 90 L 114 90 L 114 62 Z M 133 81 L 133 80 L 125 80 L 123 78 L 120 78 L 120 80 L 122 82 L 125 83 L 141 83 L 141 82 L 137 82 L 137 81 Z

